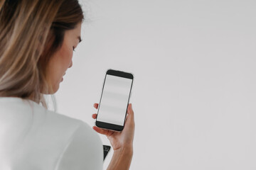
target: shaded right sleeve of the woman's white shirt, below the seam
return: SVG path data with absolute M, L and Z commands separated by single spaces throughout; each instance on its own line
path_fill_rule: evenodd
M 97 132 L 82 122 L 57 164 L 56 170 L 102 170 L 103 147 Z

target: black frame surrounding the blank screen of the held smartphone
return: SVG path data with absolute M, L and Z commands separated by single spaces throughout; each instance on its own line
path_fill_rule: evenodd
M 108 69 L 107 72 L 106 72 L 106 75 L 105 75 L 103 86 L 102 86 L 102 94 L 103 94 L 107 74 L 112 75 L 112 76 L 116 76 L 116 77 L 123 77 L 123 78 L 127 78 L 127 79 L 132 79 L 132 84 L 133 84 L 133 80 L 134 80 L 133 74 L 127 73 L 127 72 L 121 72 L 121 71 L 114 70 L 114 69 Z M 131 96 L 131 91 L 132 91 L 132 86 L 131 86 L 131 89 L 129 91 L 129 98 Z M 101 102 L 101 99 L 102 99 L 102 94 L 100 96 L 100 102 Z M 128 103 L 127 103 L 127 109 L 128 109 L 128 105 L 129 105 L 129 98 L 128 98 Z M 100 111 L 100 103 L 99 103 L 99 106 L 97 108 L 97 114 L 99 113 L 99 111 Z M 126 117 L 127 117 L 127 111 L 126 111 L 125 116 L 124 116 L 124 123 L 125 123 Z M 97 118 L 96 118 L 96 121 L 95 121 L 95 125 L 98 128 L 103 128 L 103 129 L 107 129 L 107 130 L 114 130 L 114 131 L 122 131 L 124 129 L 124 123 L 123 123 L 123 125 L 115 125 L 115 124 L 112 124 L 112 123 L 105 123 L 105 122 L 97 121 Z

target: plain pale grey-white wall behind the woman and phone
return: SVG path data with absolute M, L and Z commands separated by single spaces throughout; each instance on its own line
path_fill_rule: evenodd
M 59 113 L 94 125 L 106 70 L 132 72 L 130 169 L 256 169 L 255 0 L 81 3 Z

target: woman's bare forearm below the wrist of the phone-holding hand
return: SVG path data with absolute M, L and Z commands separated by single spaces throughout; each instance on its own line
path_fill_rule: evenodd
M 128 170 L 132 162 L 132 154 L 132 147 L 115 150 L 107 170 Z

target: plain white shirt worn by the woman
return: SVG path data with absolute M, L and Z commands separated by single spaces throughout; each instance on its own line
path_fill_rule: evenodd
M 102 169 L 100 137 L 80 120 L 0 98 L 0 169 Z

